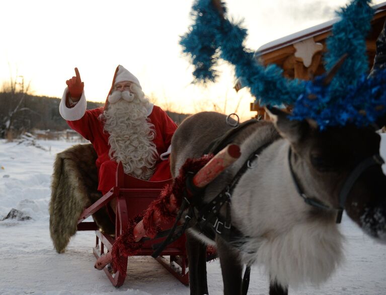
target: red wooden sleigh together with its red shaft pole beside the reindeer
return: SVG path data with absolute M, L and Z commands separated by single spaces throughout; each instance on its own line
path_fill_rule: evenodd
M 193 178 L 193 185 L 197 187 L 206 186 L 211 180 L 213 180 L 221 171 L 227 166 L 236 161 L 240 157 L 240 149 L 237 145 L 226 146 L 215 157 L 213 157 Z M 114 242 L 124 235 L 125 230 L 130 224 L 130 220 L 133 220 L 138 215 L 142 215 L 148 208 L 149 204 L 157 199 L 163 190 L 164 186 L 171 183 L 172 179 L 159 182 L 149 182 L 134 178 L 127 174 L 124 174 L 122 164 L 118 164 L 116 171 L 116 185 L 111 188 L 104 196 L 98 199 L 91 206 L 87 207 L 78 219 L 78 231 L 96 231 L 96 245 L 94 247 L 94 255 L 98 259 L 102 255 L 110 252 L 113 248 Z M 175 197 L 175 196 L 172 196 Z M 115 235 L 105 234 L 99 231 L 95 222 L 85 222 L 84 220 L 97 212 L 99 209 L 104 208 L 113 198 L 116 198 L 116 219 L 115 219 Z M 151 211 L 153 215 L 153 211 Z M 159 217 L 152 216 L 157 219 Z M 142 221 L 142 220 L 141 220 Z M 157 220 L 155 220 L 157 224 Z M 172 228 L 173 224 L 162 224 L 163 229 Z M 134 232 L 144 233 L 142 222 L 139 222 Z M 135 236 L 135 235 L 134 235 Z M 139 239 L 142 236 L 139 236 Z M 143 242 L 140 250 L 135 253 L 136 256 L 149 256 L 153 253 L 152 245 L 161 243 L 165 238 L 148 240 Z M 156 260 L 164 266 L 170 273 L 172 273 L 183 284 L 189 284 L 189 274 L 187 272 L 187 252 L 185 249 L 185 235 L 182 235 L 179 239 L 166 246 L 160 256 Z M 208 260 L 213 257 L 213 250 L 207 251 Z M 167 261 L 165 256 L 170 256 Z M 128 266 L 128 258 L 120 256 L 119 265 L 121 269 L 126 270 Z M 174 263 L 172 267 L 172 263 Z M 176 264 L 179 268 L 176 268 Z M 177 269 L 177 270 L 176 270 Z M 104 267 L 103 270 L 107 274 L 108 278 L 114 286 L 121 286 L 124 283 L 126 272 L 111 271 L 108 267 Z

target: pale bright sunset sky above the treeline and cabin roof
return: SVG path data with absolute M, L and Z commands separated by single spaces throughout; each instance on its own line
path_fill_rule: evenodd
M 379 4 L 382 1 L 374 1 Z M 34 95 L 61 97 L 65 81 L 80 70 L 89 101 L 104 102 L 115 68 L 122 64 L 155 103 L 177 112 L 217 110 L 248 118 L 253 98 L 233 90 L 224 63 L 217 83 L 191 85 L 192 67 L 181 54 L 192 0 L 0 2 L 0 87 L 10 77 L 31 82 Z M 247 47 L 261 45 L 328 21 L 346 0 L 227 0 L 228 15 L 244 19 Z

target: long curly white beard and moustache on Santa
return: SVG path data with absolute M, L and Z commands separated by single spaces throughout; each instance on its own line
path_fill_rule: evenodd
M 115 99 L 116 102 L 109 103 L 101 115 L 104 130 L 110 134 L 109 157 L 121 162 L 126 174 L 149 180 L 159 159 L 156 144 L 152 141 L 156 131 L 147 118 L 150 102 L 135 85 L 131 92 L 114 91 L 110 96 L 111 101 Z M 119 96 L 123 98 L 119 99 Z

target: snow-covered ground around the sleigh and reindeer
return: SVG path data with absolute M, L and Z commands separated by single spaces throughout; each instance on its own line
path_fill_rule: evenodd
M 0 294 L 189 294 L 188 287 L 147 256 L 130 258 L 124 285 L 113 287 L 103 271 L 94 269 L 93 232 L 79 232 L 67 251 L 57 254 L 48 230 L 52 164 L 55 154 L 73 143 L 37 143 L 43 149 L 0 140 L 0 220 L 12 208 L 33 218 L 0 222 Z M 304 286 L 290 294 L 386 294 L 386 245 L 363 235 L 346 215 L 339 227 L 346 237 L 346 262 L 319 288 Z M 208 264 L 208 283 L 210 294 L 222 294 L 218 261 Z M 249 294 L 267 293 L 267 276 L 252 268 Z

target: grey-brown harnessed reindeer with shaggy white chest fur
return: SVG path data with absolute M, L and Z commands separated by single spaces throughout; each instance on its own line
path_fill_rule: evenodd
M 246 292 L 243 267 L 254 263 L 269 273 L 272 295 L 287 294 L 289 285 L 324 282 L 333 273 L 343 256 L 336 223 L 342 209 L 363 232 L 386 242 L 380 136 L 371 128 L 351 125 L 320 131 L 312 120 L 293 121 L 281 110 L 268 111 L 273 122 L 259 121 L 237 133 L 233 142 L 240 145 L 242 156 L 206 187 L 201 206 L 190 216 L 192 295 L 208 293 L 206 244 L 217 248 L 225 295 Z M 185 119 L 172 139 L 173 177 L 187 159 L 201 157 L 209 142 L 234 123 L 215 112 Z M 248 168 L 238 173 L 245 162 Z M 210 222 L 208 216 L 215 210 L 203 220 L 199 208 L 235 183 L 237 175 L 240 179 L 227 192 L 230 198 L 215 215 L 225 221 L 231 216 L 232 229 L 223 235 L 229 225 Z

